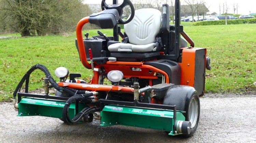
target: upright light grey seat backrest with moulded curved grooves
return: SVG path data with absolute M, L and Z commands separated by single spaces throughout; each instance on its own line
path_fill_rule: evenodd
M 143 8 L 135 11 L 131 22 L 124 25 L 129 43 L 145 45 L 154 43 L 161 28 L 161 12 L 154 8 Z

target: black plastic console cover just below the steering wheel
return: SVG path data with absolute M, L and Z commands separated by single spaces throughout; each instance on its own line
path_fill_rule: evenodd
M 96 24 L 102 29 L 113 28 L 120 19 L 118 11 L 116 9 L 104 10 L 99 13 L 91 14 L 89 22 Z

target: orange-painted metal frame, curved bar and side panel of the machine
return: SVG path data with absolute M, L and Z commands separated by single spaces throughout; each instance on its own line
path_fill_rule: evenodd
M 77 35 L 77 44 L 80 53 L 80 58 L 82 64 L 87 69 L 91 69 L 91 64 L 88 63 L 86 58 L 86 53 L 84 49 L 82 28 L 83 25 L 89 22 L 89 17 L 85 17 L 79 21 L 76 27 L 76 35 Z M 181 85 L 188 85 L 194 87 L 195 84 L 195 72 L 196 72 L 196 52 L 198 50 L 204 50 L 204 57 L 206 55 L 205 48 L 182 48 L 182 62 L 179 63 L 181 66 Z M 162 54 L 162 53 L 161 53 Z M 204 63 L 206 65 L 206 58 L 204 58 Z M 80 90 L 89 90 L 89 91 L 114 91 L 114 92 L 122 92 L 122 93 L 131 93 L 133 94 L 133 88 L 123 87 L 123 86 L 110 86 L 110 85 L 99 85 L 99 69 L 104 67 L 106 73 L 112 70 L 120 70 L 124 74 L 124 78 L 130 77 L 138 77 L 149 79 L 149 86 L 152 86 L 152 79 L 157 79 L 157 73 L 162 74 L 165 77 L 165 83 L 170 83 L 169 76 L 165 71 L 162 71 L 156 67 L 150 65 L 144 65 L 144 62 L 126 62 L 126 61 L 108 61 L 106 64 L 98 65 L 96 62 L 94 63 L 93 73 L 94 76 L 92 78 L 91 84 L 81 84 L 81 83 L 59 83 L 59 86 L 69 87 L 72 89 L 80 89 Z M 131 68 L 140 68 L 141 71 L 132 71 Z M 148 72 L 151 71 L 151 72 Z M 199 95 L 204 94 L 204 87 L 202 93 L 198 93 Z M 155 103 L 152 101 L 152 103 Z

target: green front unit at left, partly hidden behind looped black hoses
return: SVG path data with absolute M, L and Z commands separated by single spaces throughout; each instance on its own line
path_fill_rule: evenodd
M 53 118 L 62 117 L 62 109 L 66 101 L 38 99 L 24 97 L 18 104 L 18 116 L 45 116 Z M 87 107 L 86 104 L 79 103 L 79 111 Z M 69 107 L 69 117 L 72 119 L 75 116 L 75 103 Z

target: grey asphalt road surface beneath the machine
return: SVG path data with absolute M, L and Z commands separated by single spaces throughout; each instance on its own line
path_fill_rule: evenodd
M 0 143 L 10 142 L 256 142 L 256 92 L 207 94 L 200 99 L 199 126 L 193 137 L 165 132 L 92 123 L 68 126 L 59 119 L 17 117 L 11 103 L 0 103 Z

